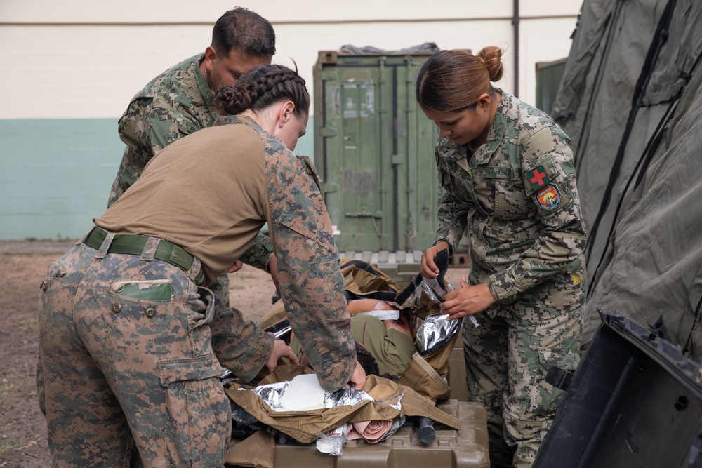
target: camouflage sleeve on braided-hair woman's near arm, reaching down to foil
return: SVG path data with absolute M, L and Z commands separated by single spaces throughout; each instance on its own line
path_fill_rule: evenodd
M 267 152 L 269 227 L 286 315 L 322 387 L 335 391 L 348 382 L 356 352 L 331 220 L 312 161 L 272 141 Z

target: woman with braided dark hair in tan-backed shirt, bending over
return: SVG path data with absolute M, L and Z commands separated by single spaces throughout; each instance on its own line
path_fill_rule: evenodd
M 203 286 L 265 222 L 286 314 L 322 387 L 364 386 L 319 179 L 293 153 L 310 107 L 305 81 L 264 65 L 217 102 L 230 115 L 161 150 L 48 268 L 37 387 L 57 466 L 223 464 L 225 368 L 250 381 L 280 358 L 298 362 Z

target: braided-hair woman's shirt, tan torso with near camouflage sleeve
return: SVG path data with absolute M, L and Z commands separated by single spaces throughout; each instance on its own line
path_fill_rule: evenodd
M 94 220 L 117 234 L 177 243 L 201 260 L 210 282 L 266 221 L 286 315 L 322 387 L 340 389 L 355 369 L 355 343 L 331 220 L 307 156 L 249 117 L 222 117 L 162 149 Z

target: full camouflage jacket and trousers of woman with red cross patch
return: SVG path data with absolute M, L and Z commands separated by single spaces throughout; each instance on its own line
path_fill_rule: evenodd
M 456 248 L 467 232 L 468 281 L 488 284 L 498 300 L 476 315 L 479 328 L 464 323 L 468 388 L 489 409 L 492 464 L 511 466 L 516 449 L 515 466 L 529 467 L 559 394 L 545 373 L 578 364 L 586 236 L 569 138 L 544 112 L 497 91 L 483 145 L 437 143 L 446 193 L 435 242 Z

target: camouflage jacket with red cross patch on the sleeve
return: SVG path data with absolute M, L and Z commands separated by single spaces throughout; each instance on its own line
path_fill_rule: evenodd
M 435 243 L 456 248 L 468 228 L 470 283 L 487 283 L 508 304 L 555 276 L 583 281 L 585 227 L 569 138 L 548 114 L 497 91 L 483 145 L 471 152 L 448 138 L 437 142 L 446 193 Z

